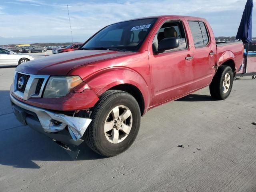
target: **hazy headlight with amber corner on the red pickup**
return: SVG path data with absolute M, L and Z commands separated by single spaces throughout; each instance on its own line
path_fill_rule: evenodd
M 44 98 L 66 96 L 82 82 L 79 76 L 51 76 L 44 91 Z

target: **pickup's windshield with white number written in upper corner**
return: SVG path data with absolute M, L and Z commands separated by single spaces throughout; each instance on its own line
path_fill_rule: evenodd
M 107 26 L 92 37 L 80 49 L 104 49 L 119 51 L 139 50 L 156 18 L 120 22 Z

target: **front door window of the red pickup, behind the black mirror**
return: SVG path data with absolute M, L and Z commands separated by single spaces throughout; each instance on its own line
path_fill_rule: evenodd
M 171 50 L 182 50 L 186 49 L 186 36 L 184 32 L 184 27 L 180 21 L 169 21 L 164 23 L 161 28 L 156 33 L 156 36 L 153 40 L 153 49 L 157 49 L 158 44 L 164 38 L 178 38 L 180 46 Z M 168 51 L 168 50 L 167 50 Z

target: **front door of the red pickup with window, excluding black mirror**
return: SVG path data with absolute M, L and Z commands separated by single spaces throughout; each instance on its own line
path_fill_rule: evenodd
M 149 43 L 148 50 L 152 53 L 149 54 L 149 65 L 153 105 L 175 100 L 192 91 L 194 59 L 188 33 L 184 30 L 185 24 L 186 22 L 181 20 L 162 22 L 159 28 L 156 28 L 152 43 Z M 158 43 L 164 38 L 178 38 L 179 47 L 163 53 L 154 53 L 153 50 L 157 50 Z

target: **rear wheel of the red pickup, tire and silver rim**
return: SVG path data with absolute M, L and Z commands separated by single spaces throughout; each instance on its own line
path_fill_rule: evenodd
M 224 100 L 228 98 L 232 90 L 233 80 L 233 71 L 229 66 L 223 65 L 218 67 L 218 70 L 209 86 L 212 98 L 217 100 Z

